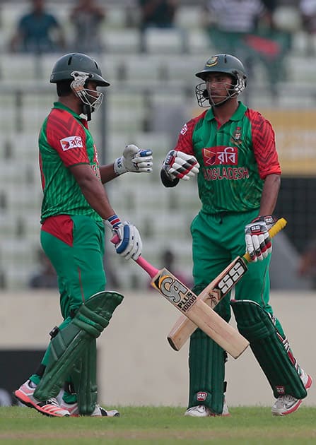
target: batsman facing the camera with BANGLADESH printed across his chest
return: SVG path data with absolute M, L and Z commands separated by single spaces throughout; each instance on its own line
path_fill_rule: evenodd
M 273 415 L 298 409 L 312 384 L 293 357 L 269 303 L 269 263 L 274 208 L 281 168 L 267 119 L 238 101 L 246 87 L 242 62 L 216 54 L 196 76 L 197 102 L 206 111 L 182 127 L 165 157 L 161 179 L 172 187 L 197 175 L 201 210 L 191 225 L 194 292 L 198 295 L 236 256 L 249 252 L 249 270 L 216 311 L 238 329 L 276 398 Z M 189 405 L 185 415 L 229 415 L 225 391 L 226 352 L 197 329 L 189 345 Z

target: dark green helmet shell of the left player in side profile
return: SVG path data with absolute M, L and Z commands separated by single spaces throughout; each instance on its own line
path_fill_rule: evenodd
M 101 70 L 97 62 L 86 54 L 73 52 L 65 54 L 57 60 L 50 75 L 50 83 L 59 81 L 73 81 L 74 71 L 84 72 L 90 81 L 96 82 L 100 86 L 109 86 L 110 83 L 102 77 Z

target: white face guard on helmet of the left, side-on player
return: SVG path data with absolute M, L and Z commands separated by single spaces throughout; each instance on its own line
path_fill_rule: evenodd
M 71 76 L 74 78 L 74 81 L 70 84 L 71 90 L 73 90 L 76 96 L 83 102 L 83 114 L 86 114 L 88 120 L 90 120 L 91 113 L 97 111 L 100 107 L 104 95 L 99 91 L 85 88 L 89 79 L 93 81 L 93 78 L 91 78 L 92 76 L 89 73 L 72 71 Z

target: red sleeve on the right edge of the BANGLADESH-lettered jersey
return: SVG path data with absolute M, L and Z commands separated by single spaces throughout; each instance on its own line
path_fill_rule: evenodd
M 246 116 L 252 125 L 252 146 L 261 179 L 268 174 L 281 174 L 274 129 L 270 122 L 252 109 L 247 109 Z

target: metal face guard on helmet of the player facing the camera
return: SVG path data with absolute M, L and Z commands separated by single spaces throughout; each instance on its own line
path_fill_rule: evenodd
M 242 93 L 242 91 L 245 90 L 246 88 L 245 79 L 242 78 L 242 76 L 240 76 L 240 73 L 236 71 L 235 73 L 230 74 L 230 76 L 233 76 L 233 83 L 230 84 L 229 88 L 227 88 L 226 86 L 225 96 L 210 95 L 209 90 L 207 89 L 206 82 L 199 83 L 195 87 L 195 95 L 197 96 L 197 103 L 199 107 L 206 108 L 209 107 L 210 105 L 212 107 L 218 107 L 218 105 L 223 104 L 232 97 L 240 95 L 240 93 Z M 221 85 L 223 86 L 222 83 Z M 214 99 L 218 98 L 221 98 L 222 100 L 219 102 L 214 102 Z

